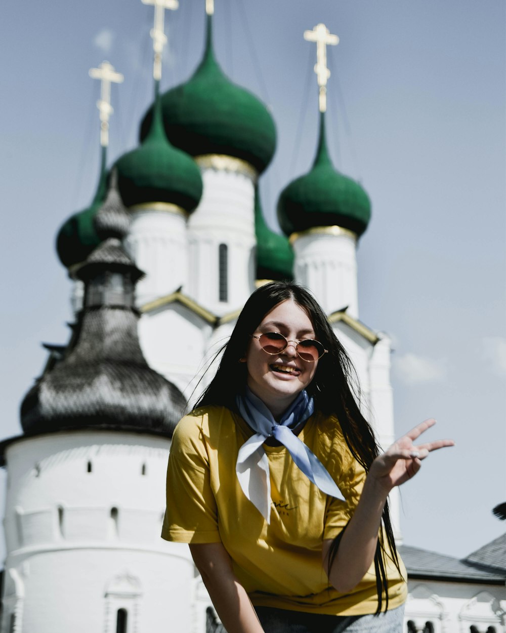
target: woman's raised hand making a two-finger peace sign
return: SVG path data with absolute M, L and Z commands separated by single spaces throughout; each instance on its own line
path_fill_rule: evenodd
M 393 487 L 400 486 L 414 477 L 421 468 L 422 460 L 431 451 L 445 448 L 445 446 L 454 446 L 455 442 L 451 439 L 439 439 L 415 446 L 414 441 L 435 423 L 436 420 L 432 418 L 425 420 L 425 422 L 416 425 L 405 436 L 400 437 L 385 453 L 373 461 L 369 477 L 374 477 L 381 487 L 390 492 Z

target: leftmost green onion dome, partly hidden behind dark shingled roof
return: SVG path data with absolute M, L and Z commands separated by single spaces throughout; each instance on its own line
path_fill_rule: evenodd
M 99 184 L 89 207 L 70 216 L 56 237 L 56 252 L 67 268 L 82 263 L 92 250 L 100 244 L 94 219 L 106 197 L 108 173 L 106 170 L 106 148 L 102 147 L 102 164 Z

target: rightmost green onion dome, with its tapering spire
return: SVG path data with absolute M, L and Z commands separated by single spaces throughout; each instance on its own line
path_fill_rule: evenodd
M 286 235 L 328 226 L 362 235 L 371 219 L 371 201 L 361 185 L 333 167 L 325 139 L 324 113 L 320 116 L 319 143 L 311 171 L 293 180 L 280 194 L 280 227 Z

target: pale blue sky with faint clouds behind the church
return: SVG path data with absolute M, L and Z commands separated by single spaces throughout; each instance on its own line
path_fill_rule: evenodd
M 393 339 L 397 434 L 436 417 L 430 436 L 457 442 L 402 487 L 404 539 L 454 556 L 505 527 L 491 515 L 506 499 L 505 11 L 503 0 L 216 0 L 214 21 L 225 72 L 276 121 L 261 180 L 273 227 L 279 192 L 316 146 L 315 51 L 302 34 L 324 22 L 340 37 L 328 54 L 330 151 L 373 203 L 359 244 L 361 320 Z M 204 0 L 180 0 L 166 25 L 163 89 L 201 58 Z M 96 187 L 89 68 L 109 60 L 125 75 L 113 87 L 111 163 L 137 143 L 151 101 L 151 26 L 140 0 L 3 7 L 5 437 L 20 430 L 40 342 L 68 339 L 70 282 L 54 239 Z

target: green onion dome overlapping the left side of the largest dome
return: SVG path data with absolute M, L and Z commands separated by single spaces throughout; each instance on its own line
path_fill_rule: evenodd
M 187 153 L 168 142 L 163 129 L 159 96 L 154 118 L 142 144 L 116 161 L 123 203 L 169 203 L 190 213 L 202 197 L 199 167 Z

